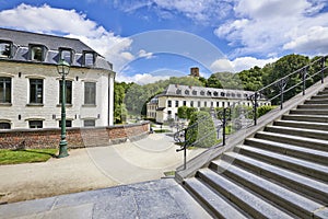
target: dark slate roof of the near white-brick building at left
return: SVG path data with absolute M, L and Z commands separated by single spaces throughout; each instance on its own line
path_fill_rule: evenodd
M 28 60 L 28 46 L 43 45 L 45 46 L 47 51 L 45 60 L 43 61 L 44 64 L 56 65 L 59 60 L 59 48 L 69 48 L 73 50 L 73 62 L 71 64 L 71 66 L 82 67 L 83 53 L 90 51 L 94 53 L 96 57 L 95 64 L 91 68 L 113 70 L 113 66 L 110 62 L 105 60 L 103 56 L 101 56 L 94 49 L 77 38 L 0 28 L 0 41 L 8 41 L 13 43 L 13 54 L 12 58 L 10 58 L 9 60 L 31 61 Z

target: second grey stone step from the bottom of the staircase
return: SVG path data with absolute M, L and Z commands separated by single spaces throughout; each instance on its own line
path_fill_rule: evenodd
M 292 218 L 290 215 L 286 215 L 284 211 L 263 200 L 263 198 L 254 195 L 233 181 L 209 169 L 200 170 L 198 177 L 207 182 L 213 189 L 227 197 L 254 218 Z

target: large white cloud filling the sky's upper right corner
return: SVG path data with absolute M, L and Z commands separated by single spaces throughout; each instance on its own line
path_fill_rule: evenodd
M 309 33 L 314 26 L 326 36 L 328 13 L 320 12 L 327 1 L 235 0 L 235 19 L 214 33 L 235 46 L 232 57 L 269 53 L 328 53 L 321 36 Z M 305 43 L 306 42 L 306 43 Z M 327 41 L 326 41 L 327 42 Z

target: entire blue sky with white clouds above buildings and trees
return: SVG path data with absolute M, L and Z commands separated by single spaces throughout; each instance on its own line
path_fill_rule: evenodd
M 139 83 L 328 54 L 328 0 L 0 0 L 0 26 L 80 38 Z

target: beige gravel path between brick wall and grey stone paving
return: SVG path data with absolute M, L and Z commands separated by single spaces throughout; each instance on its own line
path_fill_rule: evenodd
M 0 165 L 0 204 L 159 180 L 183 163 L 163 134 L 116 146 L 71 150 L 45 163 Z M 201 150 L 188 151 L 188 158 Z M 1 217 L 0 217 L 1 218 Z

